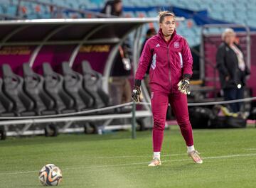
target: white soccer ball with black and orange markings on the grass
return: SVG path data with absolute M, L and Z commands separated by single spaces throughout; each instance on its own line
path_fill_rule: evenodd
M 45 186 L 58 185 L 62 180 L 62 172 L 59 167 L 48 164 L 40 170 L 39 180 Z

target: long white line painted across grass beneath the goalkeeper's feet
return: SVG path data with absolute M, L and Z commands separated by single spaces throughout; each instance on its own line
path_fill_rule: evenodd
M 223 158 L 232 158 L 232 157 L 251 157 L 251 156 L 256 156 L 256 153 L 203 157 L 203 160 L 223 159 Z M 162 162 L 179 162 L 179 161 L 186 161 L 186 160 L 191 160 L 191 159 L 164 160 Z M 127 163 L 127 164 L 118 164 L 118 165 L 95 165 L 95 166 L 90 166 L 90 167 L 66 167 L 66 168 L 62 168 L 62 169 L 70 170 L 70 169 L 90 169 L 90 168 L 102 168 L 102 167 L 122 167 L 122 166 L 131 166 L 131 165 L 144 165 L 144 164 L 148 164 L 148 163 L 149 163 L 149 161 L 148 162 L 133 162 L 133 163 Z M 35 172 L 39 172 L 39 170 L 23 171 L 23 172 L 6 172 L 6 173 L 0 173 L 0 175 L 19 175 L 19 174 L 28 174 L 28 173 L 35 173 Z

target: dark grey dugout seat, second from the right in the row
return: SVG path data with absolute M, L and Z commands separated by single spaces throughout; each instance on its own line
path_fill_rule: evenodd
M 62 63 L 63 77 L 64 77 L 64 89 L 75 100 L 75 108 L 77 111 L 82 109 L 91 109 L 93 105 L 93 99 L 90 94 L 87 94 L 82 87 L 82 75 L 73 71 L 68 62 Z

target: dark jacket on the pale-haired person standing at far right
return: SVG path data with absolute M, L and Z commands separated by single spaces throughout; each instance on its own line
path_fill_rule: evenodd
M 239 46 L 238 48 L 240 49 Z M 245 77 L 250 74 L 250 71 L 246 63 L 245 71 L 239 69 L 238 57 L 228 44 L 220 44 L 216 55 L 216 62 L 220 76 L 220 84 L 223 89 L 236 88 L 238 84 L 245 86 Z M 228 81 L 225 80 L 227 76 L 229 77 Z

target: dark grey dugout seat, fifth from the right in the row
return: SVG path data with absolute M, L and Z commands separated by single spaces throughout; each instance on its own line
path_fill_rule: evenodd
M 12 72 L 10 65 L 2 65 L 4 77 L 4 93 L 14 101 L 13 112 L 16 116 L 34 116 L 35 104 L 23 91 L 22 77 Z

